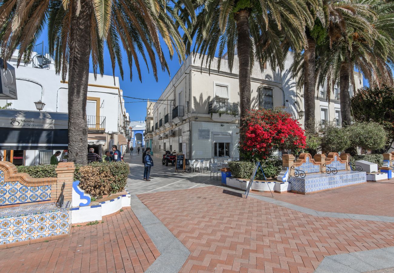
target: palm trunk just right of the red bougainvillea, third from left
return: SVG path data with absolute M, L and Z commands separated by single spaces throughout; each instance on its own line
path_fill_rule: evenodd
M 315 131 L 315 48 L 315 40 L 308 38 L 304 52 L 304 108 L 305 130 L 310 133 Z

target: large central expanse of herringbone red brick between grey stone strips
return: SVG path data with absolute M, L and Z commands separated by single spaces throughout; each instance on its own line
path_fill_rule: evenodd
M 181 272 L 313 272 L 327 255 L 394 246 L 392 223 L 316 217 L 219 187 L 138 197 L 190 250 Z

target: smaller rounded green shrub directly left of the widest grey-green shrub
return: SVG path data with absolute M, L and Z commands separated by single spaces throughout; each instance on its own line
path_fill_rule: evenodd
M 339 153 L 350 147 L 349 133 L 344 127 L 325 125 L 322 134 L 322 151 L 326 153 Z

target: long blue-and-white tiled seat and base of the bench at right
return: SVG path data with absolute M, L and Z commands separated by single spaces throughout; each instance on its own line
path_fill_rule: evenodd
M 342 171 L 338 174 L 309 174 L 305 178 L 290 177 L 292 191 L 312 193 L 366 182 L 366 172 Z

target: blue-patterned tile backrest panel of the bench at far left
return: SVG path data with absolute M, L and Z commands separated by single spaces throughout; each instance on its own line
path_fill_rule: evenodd
M 4 181 L 0 170 L 0 206 L 42 202 L 51 199 L 51 185 L 28 187 L 19 181 Z

